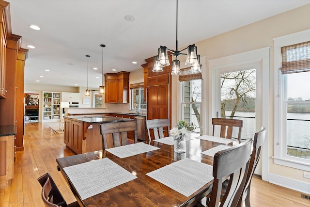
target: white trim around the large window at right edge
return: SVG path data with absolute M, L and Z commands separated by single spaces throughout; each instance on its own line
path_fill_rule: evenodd
M 284 150 L 284 147 L 286 149 L 286 142 L 285 140 L 280 139 L 280 137 L 283 137 L 283 127 L 284 127 L 283 119 L 285 117 L 283 114 L 283 106 L 282 106 L 283 93 L 281 91 L 283 80 L 281 80 L 279 68 L 281 66 L 281 47 L 310 41 L 310 30 L 288 34 L 285 36 L 274 38 L 273 40 L 274 40 L 274 56 L 275 56 L 275 64 L 274 64 L 275 138 L 274 138 L 274 156 L 272 156 L 272 158 L 274 159 L 275 164 L 309 171 L 310 163 L 304 162 L 305 159 L 298 159 L 286 155 L 286 150 Z

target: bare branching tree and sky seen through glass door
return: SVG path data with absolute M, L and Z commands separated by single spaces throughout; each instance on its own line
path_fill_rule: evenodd
M 225 111 L 232 111 L 229 116 L 233 119 L 233 116 L 237 110 L 251 111 L 252 109 L 255 109 L 255 69 L 222 73 L 220 78 L 220 112 L 222 117 L 226 116 Z

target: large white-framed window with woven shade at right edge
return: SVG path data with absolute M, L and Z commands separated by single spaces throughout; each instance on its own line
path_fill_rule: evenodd
M 275 38 L 276 164 L 310 166 L 310 30 Z

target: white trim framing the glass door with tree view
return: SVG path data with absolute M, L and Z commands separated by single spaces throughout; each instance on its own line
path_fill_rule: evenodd
M 209 107 L 208 107 L 208 122 L 211 123 L 212 117 L 216 117 L 216 98 L 215 98 L 215 72 L 219 68 L 230 67 L 238 64 L 247 64 L 252 62 L 262 62 L 262 91 L 264 92 L 261 95 L 262 98 L 262 120 L 261 125 L 267 128 L 267 133 L 265 136 L 265 142 L 262 153 L 262 179 L 268 181 L 268 172 L 269 172 L 269 135 L 268 127 L 269 125 L 269 59 L 270 59 L 270 48 L 260 48 L 256 50 L 251 50 L 248 52 L 243 52 L 231 56 L 226 56 L 222 58 L 217 58 L 214 60 L 208 61 L 209 63 L 209 85 L 208 85 L 208 94 L 209 94 Z M 212 132 L 211 124 L 209 126 L 209 132 Z

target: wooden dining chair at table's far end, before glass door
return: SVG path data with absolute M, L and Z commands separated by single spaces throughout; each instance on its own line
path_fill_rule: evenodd
M 239 119 L 223 119 L 223 118 L 213 118 L 212 119 L 213 132 L 214 136 L 215 126 L 220 126 L 220 135 L 219 137 L 232 139 L 233 136 L 233 127 L 239 127 L 238 131 L 238 140 L 241 139 L 241 128 L 243 127 L 243 121 Z M 227 128 L 227 131 L 226 131 Z

